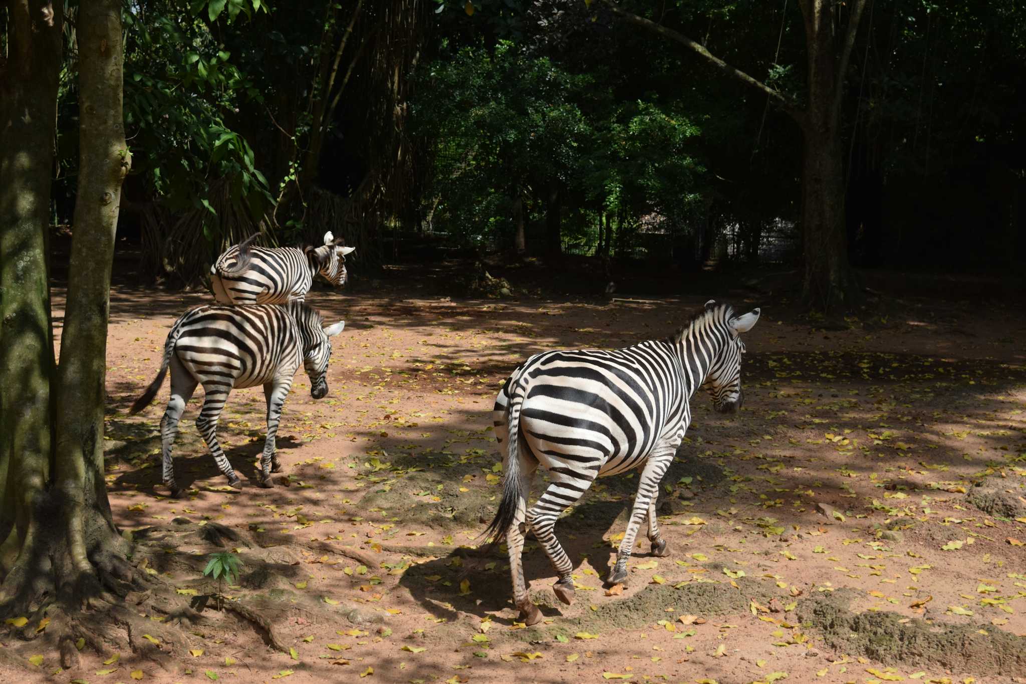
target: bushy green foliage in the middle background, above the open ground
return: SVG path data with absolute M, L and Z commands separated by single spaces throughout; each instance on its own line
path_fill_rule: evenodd
M 653 211 L 682 219 L 703 173 L 699 127 L 680 100 L 647 92 L 618 102 L 609 76 L 571 73 L 507 40 L 431 63 L 415 121 L 435 142 L 426 198 L 435 228 L 470 243 L 509 242 L 513 202 L 537 212 L 553 184 L 585 212 L 567 229 L 586 243 L 603 211 L 622 214 L 624 226 Z

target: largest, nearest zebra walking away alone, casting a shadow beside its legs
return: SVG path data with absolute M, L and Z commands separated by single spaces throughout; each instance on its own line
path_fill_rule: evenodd
M 755 309 L 735 316 L 710 300 L 669 339 L 614 351 L 537 354 L 520 364 L 496 398 L 496 439 L 508 439 L 502 501 L 486 530 L 509 547 L 513 600 L 527 625 L 542 614 L 527 596 L 520 555 L 529 528 L 559 579 L 556 596 L 574 599 L 574 568 L 553 533 L 556 518 L 576 504 L 596 477 L 642 468 L 627 531 L 607 581 L 627 579 L 627 559 L 641 521 L 648 518 L 653 554 L 667 554 L 656 522 L 659 483 L 690 424 L 688 400 L 708 385 L 717 411 L 741 407 L 741 333 L 759 319 Z M 552 483 L 535 506 L 527 495 L 542 466 Z

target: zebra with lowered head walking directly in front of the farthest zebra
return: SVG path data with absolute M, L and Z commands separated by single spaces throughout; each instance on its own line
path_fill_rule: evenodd
M 150 405 L 170 366 L 171 397 L 160 420 L 160 441 L 163 480 L 171 495 L 179 498 L 183 493 L 174 482 L 171 447 L 179 433 L 179 419 L 198 384 L 203 385 L 205 396 L 196 427 L 218 468 L 236 489 L 241 489 L 242 483 L 218 444 L 218 418 L 233 388 L 264 386 L 267 439 L 260 485 L 273 487 L 271 469 L 275 473 L 281 470 L 274 440 L 292 376 L 302 364 L 310 376 L 313 398 L 326 395 L 329 337 L 342 332 L 345 325 L 323 325 L 320 314 L 302 301 L 289 301 L 283 307 L 200 306 L 183 314 L 167 334 L 160 372 L 131 407 L 134 414 Z

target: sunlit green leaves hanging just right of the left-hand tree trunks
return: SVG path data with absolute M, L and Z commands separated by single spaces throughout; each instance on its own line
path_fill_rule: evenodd
M 218 36 L 244 31 L 231 23 L 240 13 L 266 12 L 267 5 L 163 0 L 145 7 L 125 11 L 124 110 L 133 171 L 171 211 L 203 206 L 212 213 L 209 182 L 230 177 L 233 202 L 259 219 L 273 204 L 268 182 L 249 143 L 228 121 L 263 96 Z M 216 226 L 204 226 L 208 239 Z

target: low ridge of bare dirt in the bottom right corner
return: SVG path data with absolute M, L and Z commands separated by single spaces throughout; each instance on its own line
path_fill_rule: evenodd
M 1013 675 L 1026 672 L 1026 639 L 983 625 L 930 623 L 893 612 L 853 613 L 854 591 L 837 591 L 798 604 L 803 623 L 828 646 L 885 665 L 943 666 L 955 671 Z M 980 633 L 983 630 L 983 633 Z

